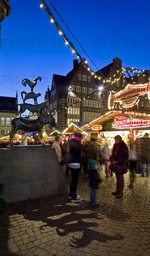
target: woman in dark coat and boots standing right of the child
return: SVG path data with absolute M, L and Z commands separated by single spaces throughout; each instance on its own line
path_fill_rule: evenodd
M 113 145 L 110 157 L 110 168 L 116 174 L 117 189 L 111 194 L 117 195 L 116 197 L 120 198 L 123 197 L 124 174 L 127 173 L 128 147 L 120 135 L 116 135 L 114 139 L 115 144 Z

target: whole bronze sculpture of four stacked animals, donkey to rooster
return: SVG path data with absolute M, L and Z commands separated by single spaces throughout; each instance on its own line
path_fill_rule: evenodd
M 56 127 L 57 124 L 55 122 L 55 119 L 51 114 L 45 114 L 45 115 L 40 115 L 40 110 L 41 108 L 47 108 L 46 101 L 38 104 L 37 98 L 41 96 L 40 93 L 35 94 L 33 92 L 33 88 L 36 86 L 37 81 L 41 81 L 42 78 L 38 76 L 35 78 L 33 81 L 30 81 L 29 79 L 24 79 L 22 81 L 23 86 L 26 87 L 26 84 L 29 85 L 31 88 L 31 92 L 26 93 L 25 91 L 21 92 L 21 96 L 23 99 L 23 94 L 25 94 L 25 97 L 23 99 L 23 103 L 18 104 L 20 106 L 20 110 L 18 111 L 18 114 L 20 114 L 20 117 L 15 117 L 12 120 L 12 130 L 10 132 L 10 139 L 9 139 L 9 144 L 13 146 L 12 140 L 13 136 L 17 133 L 19 129 L 22 129 L 25 132 L 39 132 L 39 141 L 42 145 L 45 144 L 43 140 L 43 128 L 46 124 L 51 124 L 53 127 Z M 33 99 L 34 100 L 34 105 L 33 104 L 28 104 L 25 101 L 28 99 Z M 36 112 L 38 118 L 37 119 L 27 119 L 21 117 L 21 114 L 24 113 L 28 109 L 31 112 Z

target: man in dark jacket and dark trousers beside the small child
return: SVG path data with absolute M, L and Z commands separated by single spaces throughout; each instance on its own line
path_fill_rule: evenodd
M 70 194 L 69 198 L 72 202 L 80 202 L 82 198 L 76 194 L 77 184 L 78 184 L 78 175 L 81 164 L 81 150 L 82 150 L 82 141 L 83 135 L 79 132 L 74 133 L 74 137 L 71 138 L 69 145 L 69 157 L 68 157 L 68 167 L 72 173 L 72 181 L 70 184 Z

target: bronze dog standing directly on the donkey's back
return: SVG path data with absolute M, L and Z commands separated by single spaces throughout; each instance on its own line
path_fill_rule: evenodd
M 20 116 L 21 116 L 21 114 L 24 113 L 26 111 L 26 109 L 28 109 L 31 112 L 37 112 L 37 115 L 40 116 L 41 108 L 48 108 L 46 102 L 47 101 L 44 101 L 44 102 L 42 102 L 40 104 L 36 104 L 36 105 L 29 104 L 29 103 L 18 104 L 20 106 L 20 111 L 18 111 L 17 114 L 20 114 Z

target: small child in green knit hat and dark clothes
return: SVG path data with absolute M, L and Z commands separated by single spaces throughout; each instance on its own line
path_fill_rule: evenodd
M 102 180 L 98 176 L 99 163 L 98 161 L 88 159 L 90 163 L 90 168 L 88 169 L 88 174 L 90 176 L 90 187 L 91 187 L 91 205 L 96 206 L 98 183 Z

